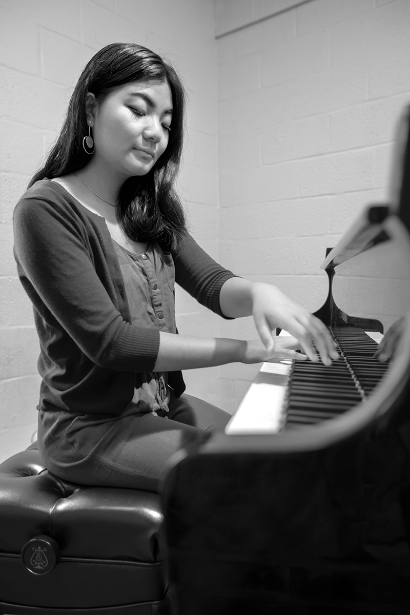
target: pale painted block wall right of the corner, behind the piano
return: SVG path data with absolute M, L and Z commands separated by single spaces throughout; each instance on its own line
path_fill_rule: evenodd
M 218 39 L 221 263 L 321 306 L 325 248 L 388 199 L 409 31 L 408 0 L 312 0 Z M 220 331 L 255 336 L 251 319 Z M 259 367 L 221 368 L 224 408 Z

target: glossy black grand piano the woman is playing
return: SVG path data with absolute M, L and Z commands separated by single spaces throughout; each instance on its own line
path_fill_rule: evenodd
M 264 363 L 226 431 L 170 462 L 177 613 L 410 613 L 409 117 L 389 203 L 321 264 L 339 359 Z

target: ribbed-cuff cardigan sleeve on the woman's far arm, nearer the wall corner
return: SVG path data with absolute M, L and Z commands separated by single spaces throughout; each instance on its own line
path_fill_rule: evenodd
M 219 293 L 224 282 L 235 276 L 216 263 L 186 232 L 178 252 L 173 254 L 175 281 L 206 308 L 227 320 L 221 311 Z

